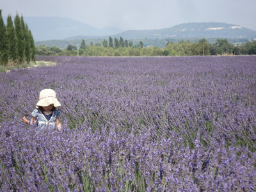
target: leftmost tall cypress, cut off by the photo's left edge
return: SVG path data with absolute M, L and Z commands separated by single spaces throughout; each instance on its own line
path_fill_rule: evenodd
M 2 10 L 0 10 L 0 65 L 7 65 L 8 63 L 8 41 L 6 36 L 6 28 L 2 17 Z

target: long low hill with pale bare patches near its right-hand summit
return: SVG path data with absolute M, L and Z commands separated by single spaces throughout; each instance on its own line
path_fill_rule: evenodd
M 115 35 L 126 39 L 193 39 L 193 38 L 256 38 L 256 31 L 222 22 L 191 22 L 172 28 L 153 30 L 129 30 Z

